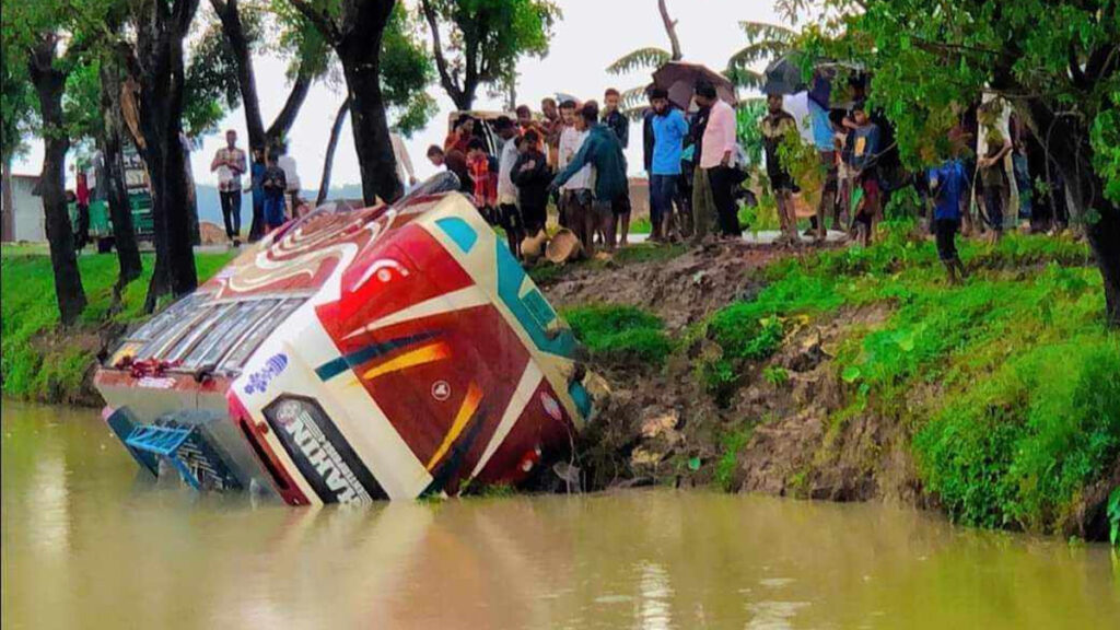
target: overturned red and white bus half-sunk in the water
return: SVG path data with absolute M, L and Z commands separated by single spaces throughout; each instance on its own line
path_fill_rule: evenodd
M 137 462 L 314 504 L 517 484 L 568 453 L 576 340 L 448 186 L 319 207 L 125 335 L 95 385 Z

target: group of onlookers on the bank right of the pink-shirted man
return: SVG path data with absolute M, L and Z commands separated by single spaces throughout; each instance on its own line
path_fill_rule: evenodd
M 949 158 L 925 172 L 907 174 L 900 168 L 893 143 L 887 142 L 889 124 L 881 115 L 872 120 L 865 105 L 864 83 L 849 82 L 853 100 L 842 108 L 830 106 L 831 87 L 824 83 L 820 77 L 814 78 L 806 93 L 811 143 L 824 178 L 820 203 L 805 235 L 824 241 L 825 222 L 831 215 L 832 230 L 869 245 L 883 219 L 887 196 L 914 186 L 925 202 L 920 211 L 927 219 L 939 257 L 950 281 L 956 282 L 965 275 L 956 251 L 956 234 L 983 234 L 995 242 L 1016 219 L 1032 231 L 1061 230 L 1067 223 L 1057 169 L 1045 168 L 1045 163 L 1030 165 L 1030 157 L 1045 160 L 1047 154 L 1040 147 L 1029 148 L 1033 141 L 1029 131 L 1014 113 L 1005 115 L 1006 105 L 999 100 L 987 100 L 958 112 L 959 123 L 945 138 Z M 787 145 L 787 138 L 800 133 L 795 117 L 785 105 L 782 95 L 768 95 L 759 130 L 766 176 L 782 230 L 780 242 L 792 243 L 800 241 L 793 202 L 799 183 L 786 164 L 790 152 L 783 146 Z M 1049 174 L 1043 195 L 1034 189 L 1032 170 Z M 1006 213 L 1012 191 L 1018 202 L 1017 217 Z

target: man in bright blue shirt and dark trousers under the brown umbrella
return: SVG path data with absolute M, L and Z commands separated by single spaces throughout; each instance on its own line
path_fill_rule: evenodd
M 673 225 L 673 198 L 681 176 L 681 151 L 689 123 L 681 110 L 669 104 L 669 92 L 655 87 L 650 92 L 653 105 L 653 159 L 650 165 L 650 220 L 652 241 L 668 241 Z

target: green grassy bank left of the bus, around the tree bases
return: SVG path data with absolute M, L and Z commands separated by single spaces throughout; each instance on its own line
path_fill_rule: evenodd
M 232 256 L 198 254 L 199 280 L 213 276 Z M 144 254 L 144 275 L 125 287 L 115 304 L 116 257 L 78 257 L 90 305 L 69 331 L 58 325 L 54 277 L 45 248 L 4 245 L 0 262 L 3 396 L 44 402 L 91 402 L 86 373 L 97 352 L 111 341 L 106 335 L 144 317 L 153 257 Z

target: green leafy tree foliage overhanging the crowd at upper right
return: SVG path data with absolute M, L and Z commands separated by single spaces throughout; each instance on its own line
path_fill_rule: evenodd
M 806 0 L 778 0 L 790 8 Z M 825 0 L 851 9 L 851 0 Z M 1049 142 L 1081 151 L 1120 198 L 1116 114 L 1120 72 L 1120 7 L 1111 0 L 916 0 L 860 2 L 834 28 L 809 33 L 801 45 L 821 56 L 861 63 L 871 78 L 870 100 L 895 127 L 903 160 L 911 167 L 936 164 L 952 152 L 949 131 L 961 109 L 986 90 L 1026 95 L 1012 99 Z M 1039 112 L 1054 112 L 1065 129 Z M 1058 113 L 1061 112 L 1061 113 Z M 1054 120 L 1058 122 L 1058 120 Z M 1091 137 L 1092 150 L 1076 136 Z M 1114 210 L 1114 207 L 1113 207 Z

